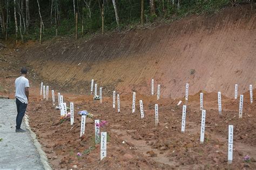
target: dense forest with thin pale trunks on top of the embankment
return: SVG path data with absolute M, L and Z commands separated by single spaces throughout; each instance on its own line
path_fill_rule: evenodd
M 254 0 L 1 0 L 1 39 L 74 38 L 214 13 Z

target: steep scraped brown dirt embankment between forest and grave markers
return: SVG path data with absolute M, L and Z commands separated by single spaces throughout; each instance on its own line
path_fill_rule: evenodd
M 239 93 L 256 86 L 255 30 L 255 10 L 239 6 L 150 29 L 58 40 L 29 47 L 22 57 L 46 81 L 86 93 L 95 79 L 107 90 L 150 94 L 154 78 L 165 97 L 184 96 L 186 83 L 190 94 L 233 96 L 234 84 Z

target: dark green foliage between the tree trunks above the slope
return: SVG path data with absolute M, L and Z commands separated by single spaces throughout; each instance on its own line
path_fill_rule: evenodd
M 15 39 L 15 22 L 14 22 L 14 3 L 6 0 L 3 3 L 4 17 L 6 21 L 6 2 L 9 1 L 10 22 L 8 24 L 8 37 Z M 245 0 L 238 0 L 242 3 Z M 251 0 L 252 1 L 252 0 Z M 30 4 L 30 26 L 26 32 L 23 32 L 24 41 L 38 40 L 40 32 L 40 17 L 38 12 L 37 1 L 29 1 Z M 44 30 L 42 40 L 51 39 L 56 36 L 56 6 L 58 7 L 59 19 L 57 19 L 57 36 L 73 36 L 75 37 L 75 16 L 73 13 L 73 1 L 70 0 L 52 0 L 54 2 L 52 8 L 52 17 L 50 17 L 51 1 L 39 0 L 41 7 L 41 15 L 44 22 Z M 84 3 L 87 2 L 88 6 Z M 90 2 L 90 3 L 89 3 Z M 78 3 L 78 5 L 77 5 Z M 100 3 L 100 5 L 99 5 Z M 78 12 L 78 37 L 82 37 L 82 19 L 84 22 L 84 35 L 88 36 L 92 33 L 100 32 L 102 27 L 102 17 L 100 8 L 102 8 L 103 0 L 76 0 L 76 12 Z M 120 29 L 135 28 L 140 24 L 140 1 L 116 0 L 118 15 L 120 20 Z M 151 15 L 149 1 L 144 0 L 144 21 L 145 23 L 153 22 L 172 22 L 175 19 L 191 15 L 205 14 L 211 15 L 220 9 L 231 5 L 231 0 L 186 0 L 180 1 L 178 8 L 178 0 L 174 1 L 155 1 L 156 13 Z M 25 4 L 25 3 L 24 3 Z M 17 12 L 20 8 L 16 7 Z M 25 9 L 25 8 L 24 8 Z M 25 13 L 25 11 L 24 11 Z M 19 27 L 19 15 L 17 13 L 17 21 Z M 24 28 L 22 29 L 24 30 Z M 104 31 L 117 30 L 116 16 L 112 1 L 104 1 Z M 5 32 L 0 32 L 2 39 L 5 38 Z M 18 39 L 21 39 L 18 31 Z

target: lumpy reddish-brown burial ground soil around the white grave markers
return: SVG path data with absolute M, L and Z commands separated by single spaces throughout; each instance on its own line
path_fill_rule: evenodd
M 256 93 L 256 90 L 253 91 Z M 28 110 L 30 125 L 43 145 L 53 168 L 86 169 L 255 169 L 256 100 L 244 99 L 242 119 L 238 118 L 239 99 L 223 99 L 223 115 L 218 113 L 217 93 L 205 93 L 205 141 L 200 144 L 201 112 L 199 96 L 190 96 L 186 114 L 186 130 L 181 133 L 182 104 L 178 100 L 138 95 L 136 112 L 131 113 L 132 94 L 120 96 L 121 112 L 112 108 L 112 98 L 103 104 L 92 96 L 64 94 L 65 102 L 75 103 L 75 124 L 60 121 L 59 111 L 51 101 L 42 101 L 37 94 Z M 247 96 L 247 93 L 245 94 Z M 140 118 L 139 99 L 143 99 L 145 117 Z M 155 126 L 154 104 L 159 105 L 159 126 Z M 233 105 L 235 107 L 233 107 Z M 99 145 L 95 145 L 93 120 L 86 121 L 86 133 L 79 138 L 80 115 L 86 109 L 93 119 L 106 120 L 100 131 L 107 131 L 107 158 L 99 161 Z M 42 116 L 44 115 L 44 116 Z M 88 120 L 89 118 L 87 118 Z M 227 129 L 234 126 L 233 163 L 227 164 Z M 77 156 L 77 153 L 83 153 Z M 250 155 L 251 162 L 242 158 Z

